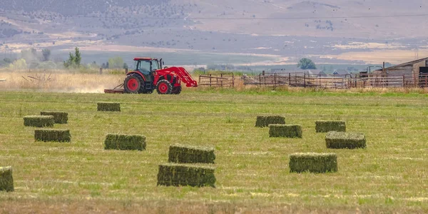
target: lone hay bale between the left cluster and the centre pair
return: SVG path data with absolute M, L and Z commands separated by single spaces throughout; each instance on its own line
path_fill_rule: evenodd
M 107 134 L 104 149 L 143 151 L 146 150 L 146 136 Z

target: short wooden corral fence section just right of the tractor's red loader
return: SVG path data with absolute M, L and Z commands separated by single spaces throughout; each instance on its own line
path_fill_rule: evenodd
M 199 76 L 199 86 L 208 86 L 215 88 L 235 87 L 235 75 L 230 73 L 210 73 Z

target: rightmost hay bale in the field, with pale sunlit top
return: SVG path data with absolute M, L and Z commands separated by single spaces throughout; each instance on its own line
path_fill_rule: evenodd
M 364 133 L 345 133 L 330 131 L 325 136 L 327 148 L 366 148 Z

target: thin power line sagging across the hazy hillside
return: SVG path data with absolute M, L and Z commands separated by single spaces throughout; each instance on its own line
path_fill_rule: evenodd
M 286 19 L 380 19 L 380 18 L 402 18 L 402 17 L 424 17 L 428 14 L 395 14 L 395 15 L 372 15 L 372 16 L 304 16 L 304 17 L 136 17 L 136 16 L 87 16 L 87 15 L 46 15 L 46 14 L 12 14 L 2 13 L 0 15 L 11 16 L 44 16 L 61 18 L 86 18 L 86 19 L 192 19 L 192 20 L 286 20 Z

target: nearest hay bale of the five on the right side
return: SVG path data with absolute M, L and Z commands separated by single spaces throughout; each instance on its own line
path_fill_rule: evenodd
M 335 153 L 294 153 L 290 155 L 291 173 L 327 173 L 337 172 Z

